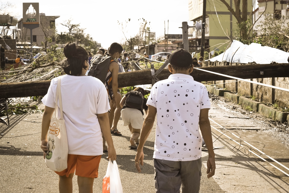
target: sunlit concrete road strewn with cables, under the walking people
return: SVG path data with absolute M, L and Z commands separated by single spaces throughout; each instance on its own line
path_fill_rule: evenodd
M 278 129 L 268 125 L 262 117 L 249 118 L 255 114 L 242 114 L 238 105 L 213 97 L 210 118 L 240 135 L 252 145 L 289 167 L 288 146 L 275 134 Z M 43 105 L 39 106 L 43 108 Z M 234 109 L 233 109 L 234 107 Z M 238 117 L 238 118 L 228 118 Z M 40 149 L 42 114 L 11 116 L 11 125 L 0 125 L 0 192 L 58 192 L 58 175 L 46 167 Z M 155 192 L 153 169 L 153 146 L 155 129 L 144 147 L 144 166 L 138 173 L 134 166 L 135 149 L 128 148 L 130 132 L 119 120 L 118 129 L 123 136 L 112 136 L 117 153 L 117 164 L 123 192 Z M 216 127 L 215 123 L 212 126 Z M 153 127 L 155 128 L 155 126 Z M 220 129 L 220 127 L 216 127 Z M 224 131 L 223 131 L 224 132 Z M 238 132 L 238 134 L 237 134 Z M 234 138 L 229 132 L 226 133 Z M 212 129 L 214 140 L 221 133 Z M 234 138 L 235 140 L 237 138 Z M 213 141 L 214 141 L 213 140 Z M 9 143 L 8 143 L 9 142 Z M 282 143 L 283 142 L 283 143 Z M 242 142 L 242 144 L 244 144 Z M 289 177 L 279 170 L 249 154 L 237 144 L 221 136 L 214 142 L 216 149 L 216 174 L 206 177 L 208 153 L 202 153 L 202 179 L 200 192 L 288 192 Z M 258 155 L 260 153 L 257 153 Z M 103 154 L 99 165 L 99 178 L 95 179 L 94 192 L 102 191 L 102 178 L 108 161 Z M 262 155 L 265 158 L 265 156 Z M 268 159 L 266 159 L 268 160 Z M 273 163 L 273 162 L 272 162 Z M 273 163 L 277 166 L 277 164 Z M 278 166 L 281 168 L 281 166 Z M 286 171 L 286 169 L 281 168 Z M 288 170 L 286 171 L 289 172 Z M 77 176 L 73 178 L 73 192 L 78 192 Z

